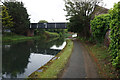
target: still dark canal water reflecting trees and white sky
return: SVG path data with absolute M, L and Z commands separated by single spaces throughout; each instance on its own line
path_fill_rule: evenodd
M 2 45 L 2 78 L 27 78 L 64 48 L 64 38 Z

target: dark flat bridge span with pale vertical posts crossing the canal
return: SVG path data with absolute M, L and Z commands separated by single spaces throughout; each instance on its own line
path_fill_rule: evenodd
M 67 23 L 31 23 L 30 29 L 67 29 Z

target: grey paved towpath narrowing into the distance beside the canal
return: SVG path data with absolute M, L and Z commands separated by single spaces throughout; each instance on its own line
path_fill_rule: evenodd
M 80 41 L 74 40 L 73 42 L 73 52 L 62 78 L 98 78 L 95 64 L 87 50 Z

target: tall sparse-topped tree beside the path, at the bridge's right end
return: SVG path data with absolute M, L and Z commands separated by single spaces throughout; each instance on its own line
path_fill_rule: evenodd
M 92 13 L 101 0 L 65 0 L 66 17 L 70 21 L 68 29 L 80 36 L 90 36 L 90 20 Z

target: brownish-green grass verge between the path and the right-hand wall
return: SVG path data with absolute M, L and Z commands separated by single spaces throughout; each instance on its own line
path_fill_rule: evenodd
M 81 40 L 81 42 L 95 61 L 100 78 L 118 78 L 118 73 L 111 64 L 111 57 L 106 46 L 85 40 Z

